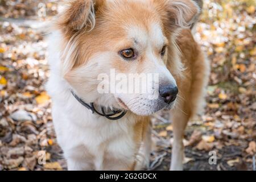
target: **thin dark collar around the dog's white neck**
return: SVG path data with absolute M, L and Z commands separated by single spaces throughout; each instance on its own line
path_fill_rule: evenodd
M 73 90 L 71 90 L 72 95 L 76 98 L 77 101 L 80 102 L 81 105 L 85 106 L 87 109 L 89 109 L 92 114 L 97 113 L 98 115 L 104 116 L 110 120 L 117 120 L 117 119 L 121 119 L 126 113 L 126 110 L 112 110 L 112 113 L 110 114 L 106 114 L 105 110 L 104 110 L 104 106 L 101 106 L 101 113 L 99 111 L 97 111 L 97 109 L 95 109 L 93 102 L 90 104 L 87 104 L 86 102 L 82 101 L 81 98 L 79 96 L 77 96 L 75 94 L 75 92 L 73 92 Z M 117 115 L 116 117 L 114 117 L 114 115 Z

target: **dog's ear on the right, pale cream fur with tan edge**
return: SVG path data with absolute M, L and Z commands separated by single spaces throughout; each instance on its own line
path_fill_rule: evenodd
M 202 0 L 155 0 L 163 15 L 164 24 L 170 28 L 188 28 L 196 23 L 203 6 Z

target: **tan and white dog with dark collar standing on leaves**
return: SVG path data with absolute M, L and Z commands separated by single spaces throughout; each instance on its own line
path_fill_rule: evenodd
M 170 110 L 174 128 L 170 169 L 183 169 L 184 130 L 203 109 L 209 75 L 191 33 L 201 5 L 192 0 L 64 3 L 48 37 L 47 91 L 69 170 L 147 168 L 150 115 L 162 109 Z M 110 76 L 111 69 L 125 75 L 157 73 L 159 86 L 152 89 L 157 97 L 99 93 L 98 75 Z

